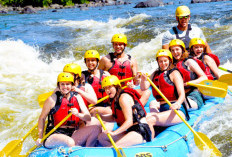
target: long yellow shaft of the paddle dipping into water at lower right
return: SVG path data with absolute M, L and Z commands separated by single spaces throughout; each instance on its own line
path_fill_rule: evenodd
M 167 104 L 171 107 L 172 104 L 170 103 L 170 101 L 156 87 L 156 85 L 151 81 L 151 79 L 147 77 L 147 80 L 150 82 L 152 87 L 155 88 L 155 90 L 160 94 L 160 96 L 167 102 Z M 207 147 L 207 149 L 209 149 L 208 145 L 202 140 L 202 138 L 197 134 L 197 132 L 188 124 L 188 122 L 179 114 L 179 112 L 176 110 L 174 110 L 174 112 L 180 117 L 180 119 L 185 123 L 185 125 L 192 131 L 194 136 L 197 137 L 201 141 L 201 143 L 203 143 Z M 212 153 L 216 156 L 216 154 L 214 152 L 212 152 Z

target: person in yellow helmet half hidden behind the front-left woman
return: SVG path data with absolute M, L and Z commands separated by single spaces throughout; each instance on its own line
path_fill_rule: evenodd
M 84 99 L 86 106 L 97 103 L 97 96 L 93 87 L 89 83 L 85 83 L 81 78 L 81 67 L 76 63 L 66 64 L 63 72 L 71 73 L 74 76 L 75 87 L 73 90 L 78 92 Z

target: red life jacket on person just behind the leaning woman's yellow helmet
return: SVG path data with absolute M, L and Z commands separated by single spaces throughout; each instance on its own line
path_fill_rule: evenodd
M 91 73 L 87 70 L 83 71 L 82 74 L 85 75 L 85 82 L 91 84 L 91 86 L 93 87 L 98 99 L 107 96 L 105 90 L 101 87 L 101 82 L 106 77 L 105 75 L 103 75 L 104 71 L 102 69 L 100 69 L 100 79 L 96 76 L 90 77 Z

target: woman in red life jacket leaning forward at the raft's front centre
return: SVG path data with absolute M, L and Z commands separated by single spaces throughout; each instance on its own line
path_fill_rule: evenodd
M 118 147 L 127 147 L 151 141 L 153 127 L 149 127 L 146 121 L 146 111 L 140 102 L 140 94 L 132 89 L 121 88 L 119 79 L 107 76 L 102 81 L 111 100 L 112 115 L 102 116 L 103 120 L 116 121 L 119 128 L 112 131 L 106 130 L 98 136 L 99 143 L 104 146 L 112 146 L 107 133 L 111 134 Z M 154 134 L 154 133 L 153 133 Z

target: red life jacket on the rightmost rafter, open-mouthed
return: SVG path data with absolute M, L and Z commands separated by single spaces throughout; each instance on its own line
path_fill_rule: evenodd
M 204 63 L 204 56 L 205 55 L 208 55 L 210 56 L 216 63 L 217 66 L 220 65 L 220 60 L 219 58 L 215 55 L 215 54 L 212 54 L 212 53 L 203 53 L 199 59 L 201 60 L 201 62 L 204 64 L 205 66 L 205 74 L 206 76 L 208 77 L 209 80 L 216 80 L 217 77 L 215 76 L 215 74 L 213 73 L 213 71 L 210 69 L 209 66 L 207 66 L 205 63 Z

